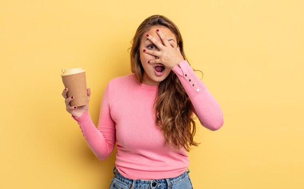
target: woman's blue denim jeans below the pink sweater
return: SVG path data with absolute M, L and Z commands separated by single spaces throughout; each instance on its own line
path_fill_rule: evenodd
M 116 172 L 115 172 L 116 170 Z M 190 170 L 174 178 L 159 180 L 133 180 L 122 176 L 116 166 L 113 168 L 114 177 L 109 189 L 193 189 L 189 177 Z

